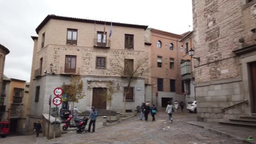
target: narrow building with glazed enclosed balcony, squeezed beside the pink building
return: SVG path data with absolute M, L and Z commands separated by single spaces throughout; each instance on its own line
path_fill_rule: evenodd
M 196 100 L 195 95 L 195 76 L 193 58 L 188 54 L 193 47 L 193 31 L 184 36 L 180 42 L 184 46 L 185 54 L 181 57 L 181 77 L 184 84 L 186 102 Z

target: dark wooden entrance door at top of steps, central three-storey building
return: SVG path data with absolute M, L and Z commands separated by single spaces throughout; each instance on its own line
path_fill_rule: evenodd
M 94 87 L 92 92 L 92 106 L 96 109 L 106 109 L 106 101 L 102 98 L 102 93 L 106 88 Z

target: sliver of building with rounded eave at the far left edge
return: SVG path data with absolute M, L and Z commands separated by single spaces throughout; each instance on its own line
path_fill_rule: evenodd
M 0 44 L 0 90 L 2 90 L 3 78 L 4 78 L 4 63 L 5 63 L 5 55 L 9 54 L 10 51 L 3 45 Z M 0 119 L 5 113 L 6 106 L 4 105 L 5 101 L 5 91 L 1 91 L 0 93 Z

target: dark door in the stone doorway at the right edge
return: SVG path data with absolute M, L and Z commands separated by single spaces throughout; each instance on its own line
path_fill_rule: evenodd
M 252 113 L 256 113 L 256 62 L 250 64 L 250 72 L 251 72 L 251 105 L 252 105 Z

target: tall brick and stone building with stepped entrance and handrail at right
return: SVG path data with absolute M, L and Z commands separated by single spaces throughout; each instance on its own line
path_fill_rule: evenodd
M 256 113 L 256 1 L 193 1 L 197 117 Z

